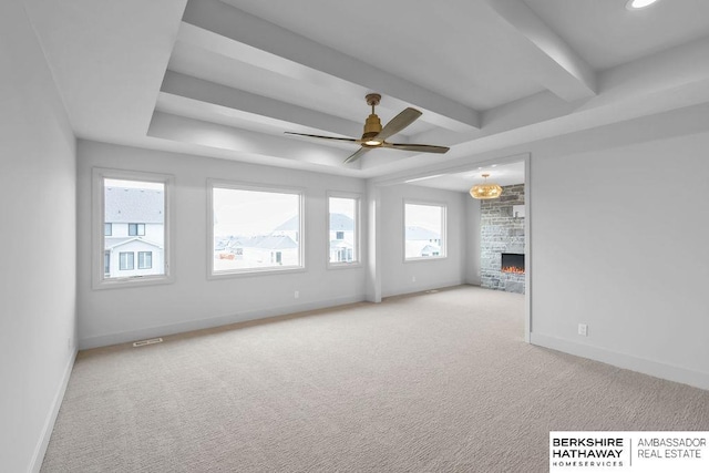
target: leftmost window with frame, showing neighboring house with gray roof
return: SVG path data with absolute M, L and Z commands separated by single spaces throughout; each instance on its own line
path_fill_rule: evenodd
M 93 169 L 93 288 L 172 282 L 168 204 L 173 178 L 101 168 Z

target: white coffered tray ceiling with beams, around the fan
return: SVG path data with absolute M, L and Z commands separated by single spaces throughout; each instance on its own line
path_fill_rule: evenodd
M 81 138 L 381 177 L 709 101 L 709 2 L 27 0 Z M 357 147 L 370 109 L 423 115 Z M 474 169 L 474 167 L 473 167 Z

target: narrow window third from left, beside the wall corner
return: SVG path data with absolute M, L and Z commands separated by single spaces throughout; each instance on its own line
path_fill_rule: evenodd
M 330 267 L 359 264 L 359 196 L 335 193 L 328 196 Z

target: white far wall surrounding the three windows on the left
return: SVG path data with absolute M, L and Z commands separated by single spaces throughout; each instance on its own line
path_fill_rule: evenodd
M 143 171 L 175 176 L 174 284 L 91 288 L 91 169 Z M 79 337 L 96 347 L 239 320 L 364 299 L 364 268 L 327 269 L 328 191 L 360 193 L 366 183 L 310 172 L 79 142 Z M 304 273 L 207 279 L 207 178 L 305 188 Z M 362 225 L 367 215 L 362 215 Z M 363 227 L 366 235 L 366 227 Z M 299 298 L 295 299 L 295 291 Z

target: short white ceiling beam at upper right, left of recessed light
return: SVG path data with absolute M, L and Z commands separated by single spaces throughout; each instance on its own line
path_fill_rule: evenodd
M 596 95 L 596 74 L 566 42 L 520 0 L 485 0 L 516 33 L 536 51 L 532 65 L 538 68 L 540 83 L 567 102 Z

